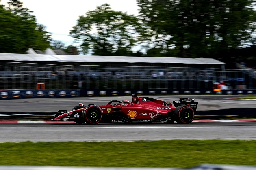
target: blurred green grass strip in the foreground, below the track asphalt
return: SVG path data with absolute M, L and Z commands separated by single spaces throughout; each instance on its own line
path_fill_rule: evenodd
M 0 143 L 0 165 L 180 167 L 200 164 L 256 166 L 256 141 Z

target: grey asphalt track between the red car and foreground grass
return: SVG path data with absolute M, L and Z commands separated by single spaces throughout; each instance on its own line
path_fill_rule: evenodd
M 83 142 L 135 140 L 256 140 L 256 122 L 118 123 L 0 123 L 0 142 Z

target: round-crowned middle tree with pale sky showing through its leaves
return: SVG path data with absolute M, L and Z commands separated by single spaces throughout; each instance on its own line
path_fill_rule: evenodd
M 140 38 L 140 30 L 141 23 L 135 16 L 103 4 L 88 11 L 85 17 L 79 16 L 70 36 L 80 44 L 83 53 L 130 56 Z

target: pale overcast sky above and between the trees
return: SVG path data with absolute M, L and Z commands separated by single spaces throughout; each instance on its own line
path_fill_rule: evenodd
M 10 0 L 1 0 L 7 6 Z M 136 0 L 20 0 L 23 7 L 28 8 L 37 18 L 37 23 L 43 24 L 47 32 L 51 32 L 54 40 L 60 40 L 65 45 L 71 45 L 73 38 L 67 36 L 72 26 L 76 25 L 78 16 L 85 15 L 96 6 L 110 4 L 115 11 L 138 15 Z

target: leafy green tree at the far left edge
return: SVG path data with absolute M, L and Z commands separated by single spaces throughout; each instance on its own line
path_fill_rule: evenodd
M 9 8 L 0 5 L 0 53 L 25 53 L 33 47 L 50 47 L 51 34 L 36 23 L 33 11 L 22 8 L 20 0 L 11 0 Z

